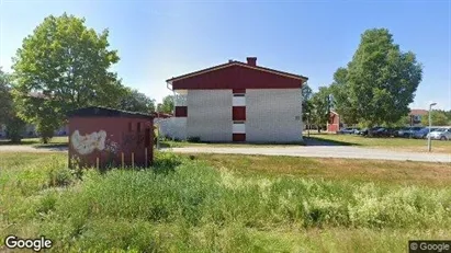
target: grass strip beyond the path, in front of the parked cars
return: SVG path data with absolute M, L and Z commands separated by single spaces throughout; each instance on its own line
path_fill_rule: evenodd
M 306 136 L 306 135 L 304 135 Z M 336 145 L 383 148 L 399 151 L 427 152 L 427 140 L 407 138 L 369 138 L 354 135 L 311 134 L 312 139 L 330 141 Z M 451 153 L 451 141 L 432 140 L 432 152 Z

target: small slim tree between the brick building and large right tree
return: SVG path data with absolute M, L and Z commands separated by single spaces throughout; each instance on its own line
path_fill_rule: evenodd
M 329 120 L 330 115 L 330 90 L 327 87 L 320 87 L 318 92 L 312 96 L 312 122 L 318 127 L 324 128 Z

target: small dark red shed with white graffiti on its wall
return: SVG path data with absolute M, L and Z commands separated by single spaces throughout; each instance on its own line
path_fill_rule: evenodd
M 153 162 L 154 115 L 86 107 L 69 117 L 69 165 L 146 166 Z

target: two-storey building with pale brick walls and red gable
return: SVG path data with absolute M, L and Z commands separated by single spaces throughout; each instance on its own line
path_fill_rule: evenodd
M 162 133 L 210 142 L 302 141 L 302 91 L 308 78 L 267 68 L 257 57 L 229 60 L 167 80 L 174 117 Z

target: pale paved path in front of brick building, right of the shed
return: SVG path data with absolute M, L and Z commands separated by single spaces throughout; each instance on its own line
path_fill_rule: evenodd
M 166 149 L 179 153 L 239 153 L 263 156 L 290 156 L 313 158 L 351 158 L 395 161 L 421 161 L 421 162 L 450 162 L 451 154 L 447 153 L 419 153 L 401 152 L 383 149 L 368 149 L 346 146 L 300 146 L 300 147 L 273 147 L 273 148 L 214 148 L 190 147 Z

